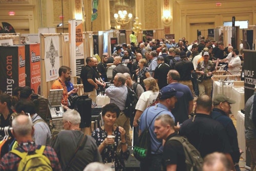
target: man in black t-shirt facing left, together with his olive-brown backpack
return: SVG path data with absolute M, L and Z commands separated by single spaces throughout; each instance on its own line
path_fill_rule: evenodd
M 155 120 L 155 133 L 158 139 L 165 140 L 163 146 L 164 170 L 199 171 L 203 159 L 197 149 L 174 129 L 175 122 L 169 115 L 160 115 Z

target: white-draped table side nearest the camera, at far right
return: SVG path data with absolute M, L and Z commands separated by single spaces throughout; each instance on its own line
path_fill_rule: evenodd
M 246 160 L 245 148 L 245 128 L 244 128 L 244 114 L 241 111 L 237 112 L 237 132 L 238 132 L 238 146 L 244 152 L 243 158 Z

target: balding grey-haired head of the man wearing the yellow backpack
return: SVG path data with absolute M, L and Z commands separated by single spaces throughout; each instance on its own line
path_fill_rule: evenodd
M 27 115 L 19 115 L 12 121 L 13 132 L 18 136 L 31 134 L 33 123 Z

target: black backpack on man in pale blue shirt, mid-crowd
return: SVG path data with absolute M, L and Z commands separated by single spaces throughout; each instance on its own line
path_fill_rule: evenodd
M 125 109 L 124 109 L 124 114 L 127 117 L 135 116 L 135 107 L 138 101 L 138 96 L 137 94 L 130 88 L 127 87 L 127 97 L 125 101 Z

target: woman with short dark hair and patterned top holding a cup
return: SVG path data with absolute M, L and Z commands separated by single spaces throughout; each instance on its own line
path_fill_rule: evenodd
M 104 126 L 92 132 L 92 137 L 98 145 L 103 163 L 115 165 L 115 170 L 125 170 L 124 160 L 130 152 L 125 140 L 125 130 L 121 126 L 114 126 L 120 114 L 120 109 L 115 103 L 106 104 L 102 108 Z

